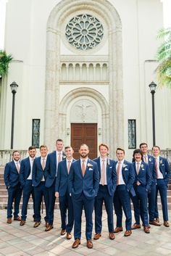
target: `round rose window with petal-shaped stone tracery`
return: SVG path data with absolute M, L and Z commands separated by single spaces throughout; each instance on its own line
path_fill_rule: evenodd
M 65 36 L 73 47 L 86 51 L 93 49 L 101 42 L 104 28 L 96 17 L 77 15 L 68 22 Z

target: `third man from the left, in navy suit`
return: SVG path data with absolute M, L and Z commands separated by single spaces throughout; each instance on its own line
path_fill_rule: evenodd
M 47 178 L 47 166 L 48 159 L 47 153 L 48 148 L 46 145 L 40 146 L 41 157 L 36 157 L 33 162 L 33 173 L 32 173 L 32 181 L 34 186 L 34 194 L 35 194 L 35 219 L 36 223 L 34 224 L 34 228 L 37 228 L 41 224 L 41 202 L 42 198 L 44 198 L 45 207 L 46 207 L 46 216 L 44 220 L 46 221 L 46 226 L 48 226 L 48 192 L 45 186 L 46 178 Z

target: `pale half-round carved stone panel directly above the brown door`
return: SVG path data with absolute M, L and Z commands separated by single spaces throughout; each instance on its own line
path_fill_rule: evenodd
M 88 99 L 75 102 L 70 111 L 71 123 L 97 123 L 96 105 Z

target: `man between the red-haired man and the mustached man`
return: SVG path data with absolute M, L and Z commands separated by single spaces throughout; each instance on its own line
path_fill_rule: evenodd
M 117 148 L 117 189 L 114 193 L 114 211 L 117 215 L 117 227 L 114 229 L 114 233 L 118 233 L 123 230 L 122 228 L 122 209 L 125 213 L 125 227 L 126 231 L 124 236 L 130 236 L 132 213 L 130 207 L 130 194 L 135 197 L 135 191 L 133 189 L 133 183 L 135 180 L 135 173 L 131 162 L 126 161 L 125 150 Z

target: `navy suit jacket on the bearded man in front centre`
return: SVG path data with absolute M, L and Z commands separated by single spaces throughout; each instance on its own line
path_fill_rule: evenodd
M 80 197 L 83 193 L 87 199 L 93 199 L 99 189 L 99 170 L 96 162 L 88 159 L 83 176 L 80 160 L 72 163 L 69 174 L 69 191 L 72 197 Z

